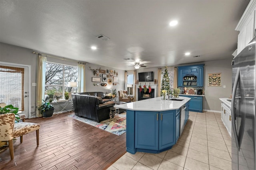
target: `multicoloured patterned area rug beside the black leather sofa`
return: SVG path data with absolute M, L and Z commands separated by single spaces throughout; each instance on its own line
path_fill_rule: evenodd
M 68 116 L 118 136 L 126 133 L 126 114 L 119 114 L 119 117 L 111 118 L 111 121 L 110 119 L 107 119 L 100 123 L 85 117 L 78 117 L 77 115 Z

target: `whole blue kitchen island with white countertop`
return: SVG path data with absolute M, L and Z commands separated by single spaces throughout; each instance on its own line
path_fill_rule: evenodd
M 127 152 L 159 153 L 175 145 L 188 120 L 190 98 L 173 99 L 158 97 L 115 106 L 126 109 Z

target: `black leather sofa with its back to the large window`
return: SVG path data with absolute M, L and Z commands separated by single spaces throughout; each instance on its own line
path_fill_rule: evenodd
M 110 107 L 115 105 L 112 96 L 104 92 L 81 92 L 72 94 L 75 115 L 86 117 L 98 122 L 109 119 Z

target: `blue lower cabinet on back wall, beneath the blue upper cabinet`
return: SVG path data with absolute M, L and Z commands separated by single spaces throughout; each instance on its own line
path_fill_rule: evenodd
M 203 96 L 186 96 L 187 98 L 191 98 L 189 101 L 189 111 L 203 112 Z

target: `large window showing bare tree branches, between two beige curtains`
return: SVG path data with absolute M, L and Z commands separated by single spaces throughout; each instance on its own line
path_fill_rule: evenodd
M 77 82 L 77 80 L 78 68 L 76 66 L 46 62 L 45 94 L 51 100 L 64 98 L 64 92 L 68 92 L 71 97 L 68 82 Z

